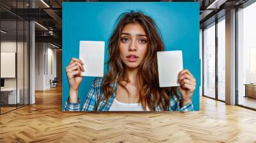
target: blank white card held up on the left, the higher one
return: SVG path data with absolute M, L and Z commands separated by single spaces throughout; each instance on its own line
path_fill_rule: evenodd
M 79 59 L 84 63 L 83 76 L 103 77 L 104 41 L 80 41 Z

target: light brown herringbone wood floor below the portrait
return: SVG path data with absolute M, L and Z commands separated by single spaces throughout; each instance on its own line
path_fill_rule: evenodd
M 256 112 L 200 99 L 200 112 L 61 111 L 61 87 L 0 116 L 0 142 L 256 142 Z

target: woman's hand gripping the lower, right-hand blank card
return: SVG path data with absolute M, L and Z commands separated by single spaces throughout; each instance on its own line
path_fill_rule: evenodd
M 189 72 L 189 70 L 182 70 L 179 72 L 179 91 L 182 96 L 182 107 L 186 105 L 186 103 L 191 102 L 191 97 L 196 88 L 196 79 Z

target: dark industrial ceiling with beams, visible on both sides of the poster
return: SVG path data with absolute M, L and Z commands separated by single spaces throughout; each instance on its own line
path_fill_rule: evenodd
M 67 2 L 109 1 L 109 0 L 66 0 Z M 128 0 L 122 0 L 128 1 Z M 142 0 L 134 0 L 142 1 Z M 153 0 L 154 1 L 154 0 Z M 166 1 L 166 0 L 160 0 Z M 172 2 L 200 2 L 200 27 L 207 26 L 216 18 L 225 15 L 226 10 L 240 6 L 248 0 L 171 0 Z M 1 0 L 1 29 L 16 34 L 16 19 L 35 20 L 36 41 L 62 43 L 62 1 L 61 0 Z M 218 13 L 218 14 L 216 14 Z M 222 13 L 222 14 L 221 14 Z M 216 16 L 217 15 L 217 16 Z M 17 33 L 22 33 L 19 27 Z M 41 26 L 40 26 L 41 25 Z M 43 27 L 42 27 L 43 26 Z M 26 30 L 26 29 L 25 29 Z M 2 35 L 2 34 L 1 34 Z M 19 37 L 19 36 L 18 36 Z

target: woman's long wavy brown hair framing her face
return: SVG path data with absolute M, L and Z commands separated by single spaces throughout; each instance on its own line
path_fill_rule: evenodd
M 146 110 L 147 107 L 150 110 L 154 110 L 157 106 L 168 110 L 170 98 L 173 95 L 177 96 L 177 89 L 175 87 L 159 87 L 157 52 L 164 51 L 164 44 L 154 20 L 144 15 L 141 11 L 122 13 L 116 21 L 116 27 L 109 38 L 109 72 L 104 76 L 102 82 L 102 93 L 104 93 L 104 96 L 102 96 L 101 100 L 105 98 L 108 101 L 111 94 L 113 94 L 114 91 L 113 87 L 111 87 L 111 82 L 117 81 L 120 83 L 121 80 L 127 81 L 125 77 L 125 64 L 122 62 L 118 51 L 118 41 L 120 41 L 124 26 L 136 22 L 143 27 L 148 38 L 148 51 L 138 67 L 137 80 L 140 83 L 138 86 L 140 94 L 139 102 L 143 106 L 143 110 Z M 122 84 L 118 85 L 122 86 Z

